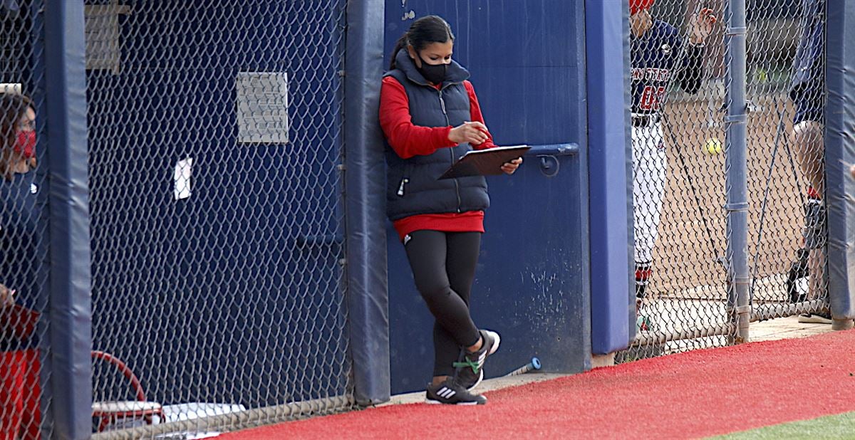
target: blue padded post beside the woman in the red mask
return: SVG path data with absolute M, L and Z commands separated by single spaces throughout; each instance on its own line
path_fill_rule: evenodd
M 91 436 L 91 300 L 83 2 L 46 2 L 50 348 L 54 437 Z

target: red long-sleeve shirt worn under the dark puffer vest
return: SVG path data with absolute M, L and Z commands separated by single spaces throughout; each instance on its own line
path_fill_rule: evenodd
M 469 95 L 470 120 L 484 123 L 475 88 L 469 81 L 463 81 Z M 439 88 L 439 85 L 437 86 Z M 485 124 L 486 125 L 486 124 Z M 416 126 L 410 117 L 410 100 L 404 85 L 397 79 L 386 77 L 380 86 L 380 127 L 386 134 L 386 140 L 399 156 L 409 159 L 414 155 L 431 155 L 441 148 L 455 147 L 457 144 L 448 139 L 452 126 Z M 494 147 L 492 136 L 487 133 L 483 144 L 473 145 L 475 150 Z M 392 222 L 398 237 L 420 230 L 443 232 L 484 232 L 484 211 L 465 213 L 418 214 Z

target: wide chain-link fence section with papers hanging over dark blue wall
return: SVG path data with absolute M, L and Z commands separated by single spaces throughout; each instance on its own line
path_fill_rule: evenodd
M 85 4 L 93 431 L 351 406 L 345 1 Z

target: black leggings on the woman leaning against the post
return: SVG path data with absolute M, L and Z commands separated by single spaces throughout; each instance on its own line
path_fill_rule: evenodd
M 404 244 L 416 289 L 433 323 L 434 376 L 451 376 L 461 347 L 481 335 L 469 316 L 469 294 L 481 249 L 481 232 L 416 231 Z

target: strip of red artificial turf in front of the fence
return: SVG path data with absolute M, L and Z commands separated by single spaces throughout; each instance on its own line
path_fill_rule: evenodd
M 855 331 L 836 331 L 598 368 L 480 407 L 389 406 L 222 437 L 706 437 L 853 411 L 853 374 Z

